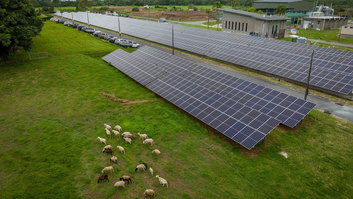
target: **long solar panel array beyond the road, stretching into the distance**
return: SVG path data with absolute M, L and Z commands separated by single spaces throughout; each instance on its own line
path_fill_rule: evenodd
M 55 13 L 61 15 L 60 13 Z M 72 13 L 88 23 L 87 13 Z M 71 19 L 71 13 L 62 13 Z M 116 16 L 88 13 L 90 24 L 119 31 Z M 171 24 L 120 17 L 122 33 L 172 45 Z M 174 26 L 174 47 L 306 83 L 310 45 L 222 31 Z M 315 47 L 310 84 L 348 94 L 353 89 L 353 52 Z

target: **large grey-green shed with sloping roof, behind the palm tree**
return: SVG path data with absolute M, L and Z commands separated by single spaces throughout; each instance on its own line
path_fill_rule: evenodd
M 267 15 L 274 14 L 278 4 L 286 6 L 287 12 L 306 13 L 313 10 L 314 2 L 305 0 L 261 0 L 253 1 L 252 7 L 262 10 Z

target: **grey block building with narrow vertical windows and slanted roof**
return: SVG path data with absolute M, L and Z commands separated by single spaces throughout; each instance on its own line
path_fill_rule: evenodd
M 229 8 L 216 10 L 223 11 L 222 31 L 257 35 L 259 37 L 277 37 L 279 30 L 283 30 L 284 36 L 287 20 L 290 20 L 285 17 L 268 16 Z

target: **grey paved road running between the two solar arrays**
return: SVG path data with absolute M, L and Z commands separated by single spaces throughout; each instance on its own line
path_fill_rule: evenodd
M 103 31 L 103 30 L 101 30 L 101 31 Z M 107 32 L 107 31 L 104 31 L 104 32 Z M 108 33 L 110 33 L 113 36 L 119 37 L 119 34 L 116 34 L 116 33 L 113 33 L 113 32 L 108 32 Z M 130 38 L 130 37 L 127 37 L 127 36 L 122 36 L 122 37 L 125 38 L 125 39 L 128 39 L 130 41 L 134 41 L 134 42 L 140 44 L 141 47 L 144 46 L 144 45 L 148 45 L 148 46 L 151 46 L 152 48 L 161 50 L 163 52 L 167 52 L 167 53 L 170 53 L 170 54 L 172 53 L 172 51 L 169 50 L 169 49 L 165 49 L 163 47 L 160 47 L 160 46 L 148 43 L 148 42 L 144 42 L 144 41 L 141 41 L 139 39 L 133 39 L 133 38 Z M 236 77 L 239 77 L 239 78 L 242 78 L 242 79 L 257 83 L 259 85 L 267 86 L 267 87 L 275 89 L 277 91 L 281 91 L 283 93 L 287 93 L 287 94 L 293 95 L 295 97 L 304 98 L 304 92 L 297 91 L 297 90 L 295 90 L 293 88 L 289 88 L 289 87 L 282 86 L 282 85 L 277 84 L 277 83 L 269 82 L 269 81 L 261 79 L 259 77 L 255 77 L 255 76 L 251 76 L 251 75 L 248 75 L 248 74 L 245 74 L 245 73 L 241 73 L 241 72 L 235 71 L 233 69 L 223 67 L 223 66 L 218 65 L 218 64 L 214 64 L 214 63 L 207 62 L 207 61 L 204 61 L 204 60 L 199 60 L 198 58 L 191 57 L 191 56 L 185 55 L 185 54 L 181 54 L 179 52 L 174 52 L 174 55 L 178 56 L 180 58 L 183 58 L 185 60 L 189 60 L 191 62 L 198 63 L 198 64 L 200 64 L 202 66 L 209 67 L 209 68 L 221 71 L 223 73 L 227 73 L 229 75 L 233 75 L 233 76 L 236 76 Z M 334 104 L 333 102 L 330 102 L 327 99 L 324 99 L 324 98 L 321 98 L 321 97 L 317 97 L 317 96 L 313 96 L 313 95 L 309 95 L 307 97 L 307 100 L 316 103 L 317 106 L 316 106 L 315 109 L 317 109 L 317 110 L 325 110 L 325 111 L 331 112 L 332 115 L 334 115 L 336 117 L 340 117 L 340 118 L 343 118 L 343 119 L 346 119 L 346 120 L 349 120 L 349 121 L 353 122 L 353 107 L 340 106 L 340 105 Z

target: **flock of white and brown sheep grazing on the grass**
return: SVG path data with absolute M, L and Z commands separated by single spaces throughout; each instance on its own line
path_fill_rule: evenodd
M 122 132 L 121 130 L 121 127 L 119 125 L 116 125 L 114 130 L 112 130 L 112 127 L 107 125 L 107 124 L 104 124 L 104 126 L 106 127 L 104 130 L 106 130 L 107 132 L 107 136 L 110 138 L 110 132 L 113 132 L 114 135 L 116 137 L 119 137 L 120 138 L 120 132 Z M 154 145 L 155 143 L 153 142 L 153 139 L 149 139 L 148 136 L 146 134 L 140 134 L 140 133 L 137 133 L 137 135 L 140 136 L 140 139 L 142 138 L 145 138 L 145 140 L 143 140 L 143 144 L 148 144 L 148 143 L 151 143 L 151 145 Z M 125 140 L 125 143 L 130 143 L 131 144 L 131 141 L 132 139 L 135 139 L 133 137 L 133 135 L 130 133 L 130 132 L 124 132 L 121 134 L 121 137 L 122 139 Z M 132 139 L 131 139 L 132 138 Z M 104 138 L 101 138 L 101 137 L 98 137 L 97 139 L 99 139 L 99 141 L 101 143 L 104 143 L 104 144 L 107 144 L 106 143 L 106 139 Z M 125 155 L 125 149 L 121 146 L 117 146 L 116 148 L 119 149 L 119 151 L 121 152 L 121 154 L 124 152 L 124 155 Z M 103 148 L 103 153 L 106 152 L 110 155 L 113 155 L 113 150 L 112 150 L 112 146 L 111 145 L 106 145 L 104 148 Z M 159 156 L 161 154 L 161 152 L 157 149 L 153 150 L 152 153 L 156 154 L 157 156 Z M 111 162 L 114 163 L 118 163 L 118 158 L 116 158 L 115 156 L 111 156 L 110 159 L 109 159 Z M 139 171 L 139 170 L 144 170 L 147 169 L 147 164 L 146 163 L 142 163 L 142 164 L 139 164 L 138 166 L 136 166 L 136 169 L 135 171 Z M 153 176 L 153 169 L 150 167 L 150 172 L 151 172 L 151 175 Z M 99 178 L 98 178 L 98 183 L 102 182 L 102 181 L 107 181 L 109 182 L 109 179 L 108 179 L 108 175 L 107 174 L 104 174 L 104 173 L 115 173 L 113 167 L 105 167 L 103 170 L 102 170 L 102 174 Z M 168 182 L 166 179 L 163 179 L 161 178 L 159 175 L 156 175 L 156 178 L 158 178 L 159 182 L 161 185 L 167 185 L 167 188 L 168 188 Z M 125 181 L 127 181 L 127 184 L 129 184 L 129 181 L 131 182 L 132 184 L 132 181 L 131 181 L 131 177 L 130 176 L 127 176 L 127 175 L 123 175 L 121 176 L 120 178 L 120 181 L 116 182 L 114 184 L 114 187 L 124 187 L 125 188 Z M 147 195 L 151 195 L 152 197 L 155 195 L 154 191 L 152 189 L 146 189 L 146 191 L 143 193 L 144 196 L 147 196 Z

